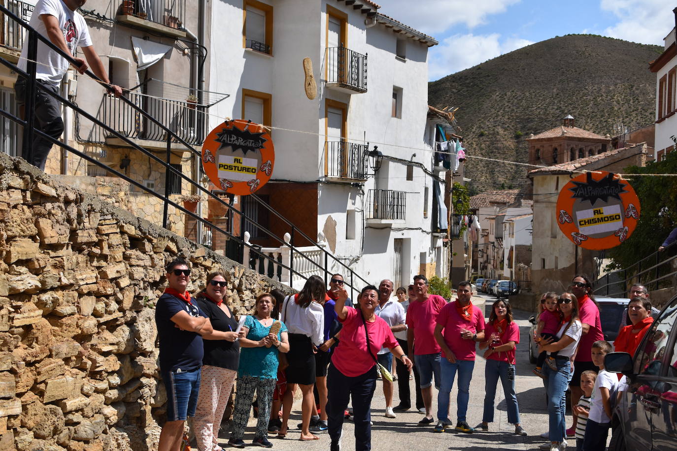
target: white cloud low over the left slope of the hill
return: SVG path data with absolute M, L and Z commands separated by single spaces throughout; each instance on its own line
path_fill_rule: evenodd
M 500 34 L 455 34 L 429 50 L 428 76 L 437 80 L 533 42 L 516 37 L 502 39 Z

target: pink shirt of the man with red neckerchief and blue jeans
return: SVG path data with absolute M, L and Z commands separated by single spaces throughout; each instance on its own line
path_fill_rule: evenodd
M 456 311 L 456 303 L 451 302 L 442 308 L 437 315 L 437 324 L 444 327 L 443 337 L 449 349 L 458 360 L 475 360 L 475 341 L 461 338 L 461 329 L 473 333 L 484 330 L 484 313 L 481 308 L 473 306 L 473 316 L 462 318 Z

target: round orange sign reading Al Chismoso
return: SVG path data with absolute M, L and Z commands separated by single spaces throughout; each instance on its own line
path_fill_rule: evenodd
M 611 172 L 586 172 L 562 187 L 557 199 L 559 229 L 586 249 L 610 249 L 626 241 L 640 214 L 627 180 Z

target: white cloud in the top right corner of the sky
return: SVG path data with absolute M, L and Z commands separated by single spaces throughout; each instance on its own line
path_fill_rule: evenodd
M 619 19 L 606 36 L 642 44 L 663 44 L 674 27 L 674 0 L 601 0 L 600 9 Z

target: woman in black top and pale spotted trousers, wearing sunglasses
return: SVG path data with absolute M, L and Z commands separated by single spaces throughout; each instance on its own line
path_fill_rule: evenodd
M 217 442 L 219 427 L 238 374 L 240 344 L 238 334 L 234 332 L 238 322 L 223 298 L 226 285 L 224 272 L 212 272 L 207 276 L 206 287 L 196 295 L 200 310 L 207 315 L 213 328 L 209 335 L 202 335 L 202 380 L 193 421 L 200 451 L 221 449 Z

